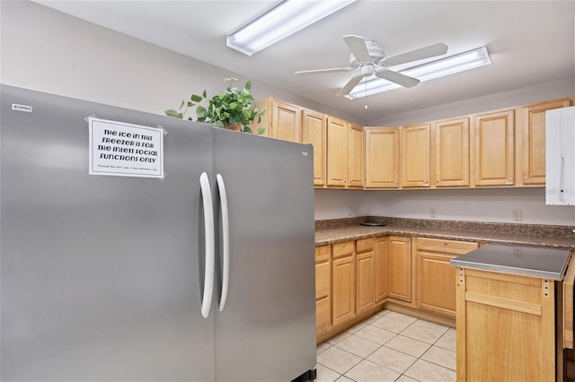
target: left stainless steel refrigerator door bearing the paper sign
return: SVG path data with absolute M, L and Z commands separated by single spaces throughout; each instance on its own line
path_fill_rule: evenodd
M 163 126 L 164 179 L 88 175 L 91 115 Z M 0 134 L 0 379 L 213 380 L 199 256 L 211 129 L 2 86 Z

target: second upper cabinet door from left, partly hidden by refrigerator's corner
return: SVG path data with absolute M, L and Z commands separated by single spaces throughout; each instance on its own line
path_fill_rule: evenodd
M 302 111 L 302 143 L 314 146 L 314 187 L 325 186 L 326 123 L 325 114 Z

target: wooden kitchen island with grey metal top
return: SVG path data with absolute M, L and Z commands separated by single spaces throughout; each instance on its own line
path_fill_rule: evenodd
M 562 286 L 570 262 L 569 248 L 500 245 L 451 260 L 458 381 L 563 380 L 562 329 L 571 326 L 572 339 L 572 308 L 563 317 Z M 572 280 L 569 296 L 572 307 Z

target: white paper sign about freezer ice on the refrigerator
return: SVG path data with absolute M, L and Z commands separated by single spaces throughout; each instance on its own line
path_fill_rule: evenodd
M 164 129 L 88 118 L 90 175 L 164 178 Z

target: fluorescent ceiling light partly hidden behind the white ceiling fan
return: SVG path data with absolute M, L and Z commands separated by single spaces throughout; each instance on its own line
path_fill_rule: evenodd
M 487 53 L 487 48 L 482 47 L 455 56 L 441 58 L 437 61 L 431 61 L 427 64 L 413 66 L 402 70 L 400 73 L 415 77 L 420 80 L 420 82 L 424 82 L 489 64 L 491 64 L 491 58 Z M 376 77 L 359 82 L 358 86 L 349 92 L 346 97 L 349 98 L 349 100 L 355 100 L 365 97 L 366 95 L 391 91 L 401 87 L 402 86 L 397 83 Z

